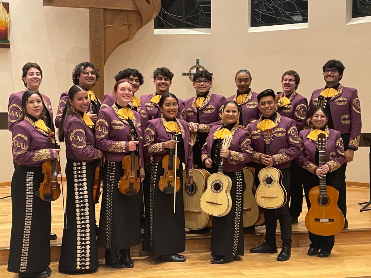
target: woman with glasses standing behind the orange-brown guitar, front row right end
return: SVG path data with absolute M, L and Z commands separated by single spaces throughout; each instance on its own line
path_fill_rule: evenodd
M 341 175 L 338 174 L 339 167 L 345 162 L 345 151 L 340 132 L 327 127 L 328 112 L 323 107 L 316 107 L 312 112 L 312 129 L 305 129 L 299 133 L 301 152 L 298 155 L 298 163 L 305 170 L 303 176 L 303 187 L 308 210 L 311 208 L 309 191 L 319 185 L 320 179 L 326 177 L 326 184 L 338 189 L 341 185 L 339 181 Z M 317 140 L 319 134 L 325 134 L 325 163 L 319 166 L 319 151 Z M 341 213 L 339 211 L 339 213 Z M 308 255 L 318 257 L 328 257 L 335 244 L 335 235 L 322 236 L 309 233 L 311 244 L 309 245 Z M 319 251 L 321 249 L 321 251 Z M 318 253 L 319 251 L 319 253 Z

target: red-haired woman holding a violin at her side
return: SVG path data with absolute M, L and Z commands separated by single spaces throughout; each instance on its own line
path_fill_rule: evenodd
M 116 82 L 114 96 L 116 102 L 99 111 L 96 121 L 97 147 L 105 155 L 98 246 L 106 248 L 106 265 L 132 268 L 130 247 L 141 243 L 141 116 L 128 106 L 133 96 L 128 81 Z

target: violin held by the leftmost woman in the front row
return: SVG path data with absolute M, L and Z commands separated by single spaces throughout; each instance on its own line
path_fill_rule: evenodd
M 55 137 L 50 137 L 54 149 L 60 149 Z M 40 183 L 39 191 L 36 195 L 43 201 L 55 201 L 60 196 L 60 183 L 58 182 L 58 174 L 60 173 L 60 163 L 58 158 L 47 160 L 42 165 L 44 180 Z

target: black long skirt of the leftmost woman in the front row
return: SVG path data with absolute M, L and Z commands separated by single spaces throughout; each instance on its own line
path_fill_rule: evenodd
M 9 272 L 43 271 L 50 264 L 50 202 L 35 195 L 43 179 L 41 167 L 18 165 L 14 171 Z

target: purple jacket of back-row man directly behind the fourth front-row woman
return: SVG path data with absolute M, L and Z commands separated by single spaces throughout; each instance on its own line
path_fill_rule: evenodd
M 161 117 L 160 108 L 155 103 L 152 103 L 150 100 L 154 97 L 156 93 L 149 94 L 149 95 L 141 95 L 141 106 L 138 107 L 138 111 L 140 111 L 140 115 L 142 116 L 142 125 L 147 126 L 147 122 L 151 119 L 157 119 Z M 181 120 L 185 120 L 185 109 L 184 109 L 184 101 L 178 99 L 179 106 L 178 106 L 178 115 L 177 118 Z M 153 117 L 153 118 L 152 118 Z

